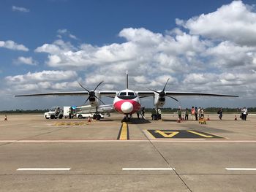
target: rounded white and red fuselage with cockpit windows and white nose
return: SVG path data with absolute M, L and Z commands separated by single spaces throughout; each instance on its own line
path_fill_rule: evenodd
M 125 89 L 119 91 L 113 101 L 113 107 L 116 111 L 129 115 L 140 110 L 140 97 L 135 91 Z

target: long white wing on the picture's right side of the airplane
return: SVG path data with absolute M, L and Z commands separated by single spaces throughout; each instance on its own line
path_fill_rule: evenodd
M 159 91 L 160 92 L 160 91 Z M 154 91 L 136 91 L 140 98 L 154 96 Z M 167 96 L 222 96 L 222 97 L 239 97 L 233 95 L 215 94 L 215 93 L 194 93 L 194 92 L 175 92 L 165 91 Z

